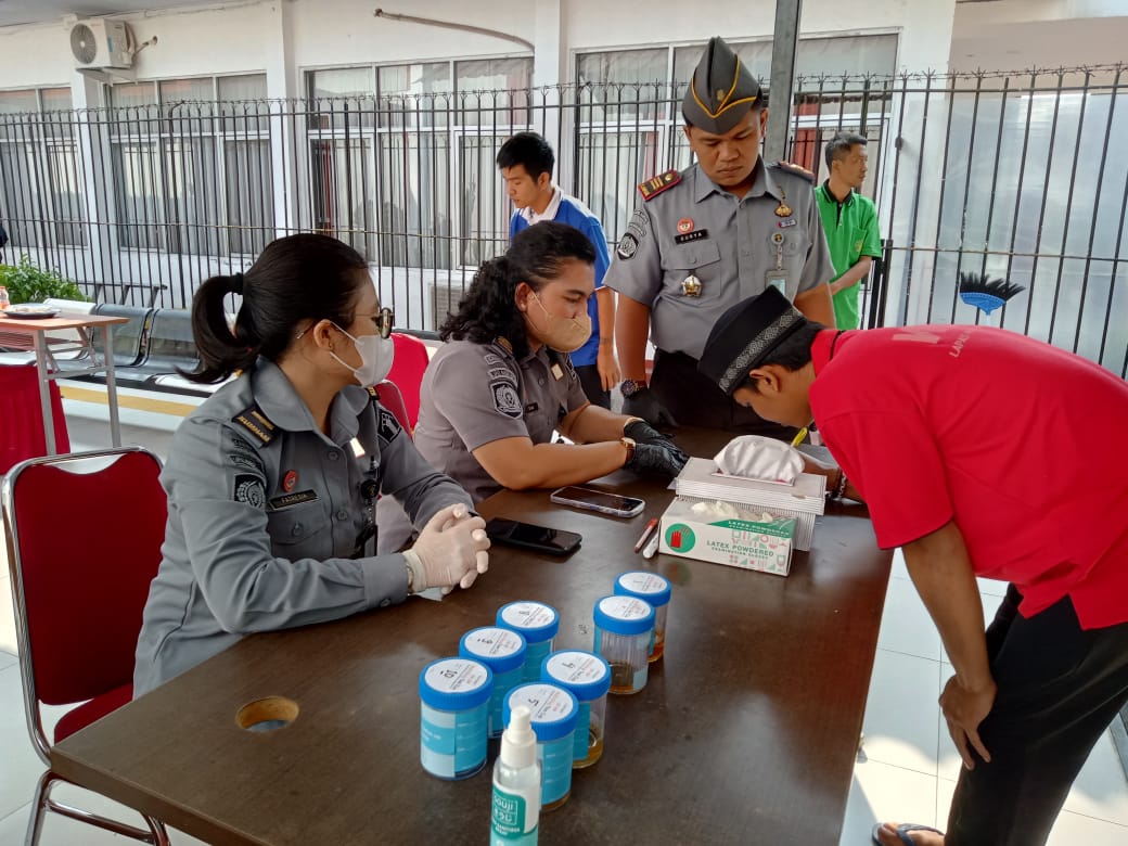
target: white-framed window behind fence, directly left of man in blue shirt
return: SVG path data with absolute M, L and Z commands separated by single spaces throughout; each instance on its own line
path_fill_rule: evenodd
M 503 252 L 510 210 L 492 170 L 501 143 L 529 126 L 531 77 L 527 58 L 310 71 L 312 226 L 385 266 Z

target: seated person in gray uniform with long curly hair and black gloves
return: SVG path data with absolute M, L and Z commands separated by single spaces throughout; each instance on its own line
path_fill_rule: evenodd
M 423 376 L 415 446 L 475 502 L 620 467 L 675 476 L 686 455 L 638 417 L 588 402 L 569 352 L 591 334 L 596 252 L 567 224 L 519 232 L 485 262 Z M 572 443 L 553 442 L 559 432 Z

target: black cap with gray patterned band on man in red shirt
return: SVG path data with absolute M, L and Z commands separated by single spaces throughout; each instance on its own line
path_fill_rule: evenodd
M 697 370 L 732 395 L 748 371 L 807 325 L 807 318 L 775 288 L 730 308 L 713 325 Z

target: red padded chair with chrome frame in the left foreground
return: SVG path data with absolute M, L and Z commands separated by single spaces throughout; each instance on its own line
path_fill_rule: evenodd
M 52 786 L 63 779 L 51 769 L 41 712 L 42 705 L 76 705 L 55 725 L 58 743 L 133 696 L 141 614 L 165 539 L 159 473 L 157 457 L 134 447 L 33 458 L 5 479 L 24 712 L 35 751 L 47 765 L 28 822 L 30 846 L 39 839 L 44 811 L 168 844 L 165 827 L 144 814 L 148 830 L 51 799 Z

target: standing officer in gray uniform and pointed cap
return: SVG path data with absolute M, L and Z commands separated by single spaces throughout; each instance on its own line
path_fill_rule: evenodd
M 786 437 L 697 372 L 705 340 L 731 306 L 774 287 L 808 318 L 834 326 L 834 265 L 805 171 L 759 155 L 768 109 L 759 83 L 719 37 L 681 104 L 697 162 L 638 186 L 642 204 L 605 284 L 615 324 L 623 411 L 686 424 Z M 656 347 L 650 384 L 647 333 Z M 794 430 L 791 430 L 794 431 Z

